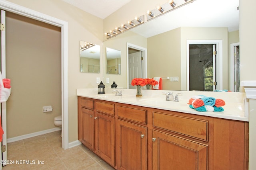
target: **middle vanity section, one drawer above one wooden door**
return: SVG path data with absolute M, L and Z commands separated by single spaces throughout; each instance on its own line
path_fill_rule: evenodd
M 147 110 L 117 105 L 117 168 L 147 169 Z

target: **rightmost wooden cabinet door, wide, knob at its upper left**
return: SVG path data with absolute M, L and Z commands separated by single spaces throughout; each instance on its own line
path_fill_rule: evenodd
M 154 170 L 207 170 L 207 145 L 153 130 Z

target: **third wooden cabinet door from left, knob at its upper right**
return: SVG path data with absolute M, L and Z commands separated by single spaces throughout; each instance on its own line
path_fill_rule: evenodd
M 146 127 L 117 120 L 117 166 L 122 170 L 146 170 Z

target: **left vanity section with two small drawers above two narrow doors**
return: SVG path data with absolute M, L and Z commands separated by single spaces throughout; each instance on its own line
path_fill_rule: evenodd
M 78 96 L 78 140 L 115 167 L 114 104 Z

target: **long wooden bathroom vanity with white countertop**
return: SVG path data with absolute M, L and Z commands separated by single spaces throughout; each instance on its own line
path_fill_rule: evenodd
M 248 169 L 248 117 L 243 93 L 78 89 L 78 140 L 116 169 Z M 174 94 L 178 93 L 175 91 Z M 199 93 L 226 101 L 223 112 L 189 108 Z M 227 102 L 228 101 L 228 102 Z

